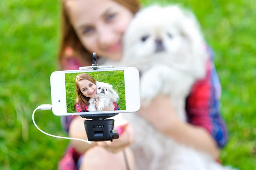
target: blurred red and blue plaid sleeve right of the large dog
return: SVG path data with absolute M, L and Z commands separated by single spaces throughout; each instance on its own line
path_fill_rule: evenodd
M 208 47 L 211 60 L 207 63 L 207 75 L 197 81 L 186 100 L 188 122 L 204 127 L 215 139 L 219 148 L 227 144 L 226 124 L 220 114 L 221 85 L 214 66 L 214 53 Z

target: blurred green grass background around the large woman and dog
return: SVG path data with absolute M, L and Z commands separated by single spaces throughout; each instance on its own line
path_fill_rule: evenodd
M 3 0 L 0 3 L 0 170 L 57 169 L 68 140 L 39 132 L 32 111 L 50 104 L 50 74 L 57 69 L 59 1 Z M 256 169 L 256 1 L 165 0 L 192 9 L 216 52 L 222 115 L 230 140 L 224 164 Z M 151 4 L 153 0 L 143 0 Z M 51 111 L 35 114 L 38 126 L 65 135 Z

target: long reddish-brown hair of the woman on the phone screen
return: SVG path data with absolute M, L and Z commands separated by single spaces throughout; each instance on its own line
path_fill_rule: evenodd
M 83 93 L 81 92 L 81 90 L 79 89 L 79 81 L 81 80 L 88 80 L 90 82 L 92 82 L 93 84 L 96 84 L 96 81 L 94 78 L 92 78 L 90 75 L 86 74 L 86 73 L 81 73 L 79 75 L 76 76 L 76 81 L 75 81 L 75 86 L 76 86 L 76 101 L 74 104 L 74 109 L 76 111 L 76 104 L 79 104 L 79 106 L 85 110 L 84 108 L 84 104 L 85 105 L 89 105 L 89 99 L 88 97 L 86 97 L 85 95 L 83 95 Z

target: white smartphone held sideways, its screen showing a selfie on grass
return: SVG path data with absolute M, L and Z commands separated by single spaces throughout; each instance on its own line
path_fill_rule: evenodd
M 112 90 L 116 91 L 118 101 L 114 102 L 115 109 L 111 111 L 88 111 L 88 106 L 84 102 L 80 102 L 81 107 L 75 109 L 75 102 L 81 96 L 87 96 L 90 92 L 87 88 L 75 84 L 76 77 L 81 74 L 89 75 L 95 81 L 104 82 L 112 85 Z M 83 75 L 84 76 L 84 75 Z M 109 114 L 122 112 L 137 112 L 140 109 L 140 75 L 135 67 L 123 68 L 107 68 L 107 69 L 84 69 L 52 72 L 50 77 L 51 96 L 52 96 L 52 112 L 58 116 L 66 115 L 91 115 L 91 114 Z M 85 87 L 93 86 L 90 81 L 85 82 Z M 94 84 L 96 86 L 96 84 Z M 83 88 L 80 95 L 77 94 L 79 88 Z M 96 87 L 99 89 L 100 87 Z M 87 95 L 86 95 L 87 94 Z M 98 91 L 93 91 L 91 95 L 97 95 Z M 79 96 L 79 97 L 78 97 Z M 90 99 L 87 96 L 86 100 Z M 83 96 L 84 97 L 84 96 Z M 80 100 L 81 101 L 81 100 Z M 76 102 L 77 103 L 77 102 Z M 93 104 L 92 104 L 93 105 Z M 77 105 L 76 105 L 77 106 Z M 86 107 L 86 108 L 85 108 Z M 102 109 L 104 110 L 104 109 Z

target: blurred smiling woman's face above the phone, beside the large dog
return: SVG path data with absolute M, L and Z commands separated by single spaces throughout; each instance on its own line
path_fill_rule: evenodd
M 133 18 L 127 8 L 112 0 L 68 0 L 70 22 L 91 53 L 119 61 L 122 35 Z

